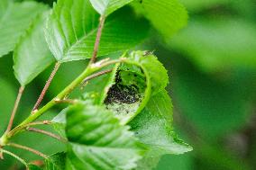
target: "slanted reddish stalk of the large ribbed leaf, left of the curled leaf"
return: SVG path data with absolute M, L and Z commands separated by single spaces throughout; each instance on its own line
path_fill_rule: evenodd
M 40 96 L 39 96 L 37 102 L 36 102 L 36 103 L 34 104 L 34 106 L 33 106 L 32 113 L 34 113 L 34 111 L 36 111 L 36 110 L 38 109 L 38 107 L 40 106 L 41 101 L 42 101 L 44 95 L 46 94 L 46 92 L 47 92 L 47 90 L 48 90 L 48 88 L 49 88 L 49 86 L 50 86 L 50 83 L 51 83 L 53 77 L 56 75 L 56 73 L 57 73 L 57 71 L 58 71 L 58 69 L 59 69 L 59 66 L 60 66 L 60 63 L 57 62 L 57 63 L 55 64 L 55 67 L 53 68 L 51 74 L 50 74 L 49 79 L 47 80 L 46 84 L 44 85 L 44 87 L 43 87 L 43 89 L 42 89 L 42 91 L 41 91 L 41 94 L 40 94 Z

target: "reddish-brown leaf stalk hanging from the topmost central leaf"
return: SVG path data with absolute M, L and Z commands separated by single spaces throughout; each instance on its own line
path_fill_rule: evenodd
M 95 43 L 94 53 L 93 53 L 93 57 L 90 60 L 90 63 L 94 63 L 96 61 L 96 56 L 97 56 L 97 52 L 98 52 L 98 48 L 99 48 L 99 42 L 100 42 L 100 38 L 101 38 L 102 31 L 103 31 L 103 28 L 104 28 L 104 24 L 105 24 L 105 16 L 102 15 L 100 17 L 98 30 L 97 30 L 97 33 L 96 33 L 96 43 Z

